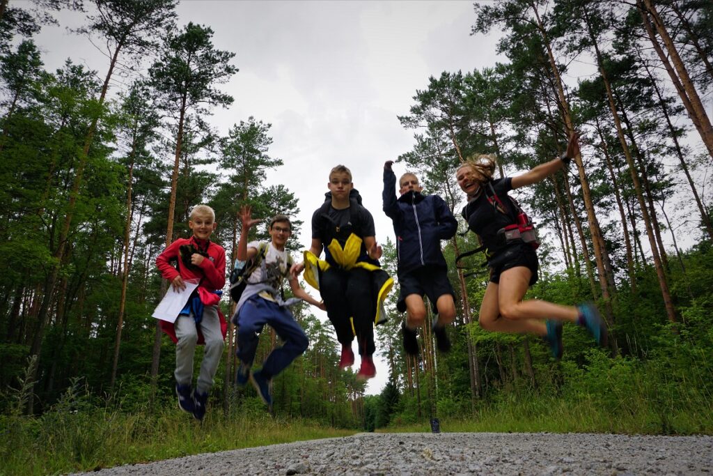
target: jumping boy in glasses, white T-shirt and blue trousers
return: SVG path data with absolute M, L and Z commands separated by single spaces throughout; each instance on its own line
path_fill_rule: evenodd
M 242 232 L 237 243 L 237 259 L 247 261 L 256 258 L 258 250 L 262 248 L 264 255 L 260 259 L 260 265 L 247 277 L 245 290 L 237 303 L 237 311 L 233 317 L 233 323 L 238 326 L 237 330 L 237 358 L 240 359 L 240 367 L 237 369 L 236 382 L 238 385 L 245 385 L 250 380 L 267 407 L 272 411 L 272 395 L 270 394 L 270 382 L 278 373 L 282 372 L 292 360 L 302 355 L 307 350 L 309 340 L 304 335 L 304 331 L 294 320 L 288 306 L 299 302 L 307 301 L 314 306 L 324 310 L 324 305 L 307 294 L 300 288 L 296 277 L 289 275 L 289 259 L 284 245 L 292 234 L 292 224 L 289 218 L 284 215 L 276 215 L 270 221 L 267 231 L 270 233 L 269 243 L 251 241 L 247 243 L 247 236 L 250 228 L 260 223 L 260 220 L 251 217 L 250 206 L 242 207 L 240 217 L 242 219 Z M 282 300 L 282 282 L 287 278 L 292 289 L 294 298 Z M 257 344 L 260 332 L 265 324 L 270 325 L 279 338 L 284 341 L 282 347 L 276 348 L 267 356 L 262 369 L 257 372 L 250 372 L 252 361 L 255 359 Z

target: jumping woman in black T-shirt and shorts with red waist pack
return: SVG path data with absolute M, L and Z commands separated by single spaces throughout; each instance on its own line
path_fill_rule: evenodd
M 508 192 L 543 181 L 568 166 L 579 150 L 578 136 L 573 133 L 561 157 L 519 176 L 493 179 L 494 156 L 468 158 L 456 171 L 458 186 L 468 196 L 463 218 L 468 228 L 483 240 L 490 268 L 490 282 L 478 323 L 494 332 L 539 335 L 548 342 L 555 358 L 562 356 L 563 321 L 587 328 L 602 346 L 607 343 L 607 328 L 591 303 L 575 307 L 523 300 L 530 285 L 538 280 L 539 263 L 533 243 L 525 242 L 525 235 L 520 236 L 519 228 L 514 226 L 522 217 Z

